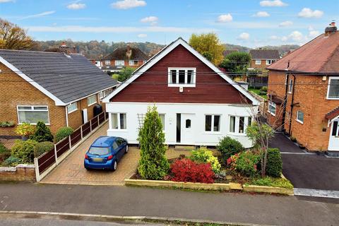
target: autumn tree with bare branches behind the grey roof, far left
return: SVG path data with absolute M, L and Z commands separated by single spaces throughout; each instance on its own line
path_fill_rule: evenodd
M 0 18 L 0 49 L 31 49 L 33 45 L 27 30 Z

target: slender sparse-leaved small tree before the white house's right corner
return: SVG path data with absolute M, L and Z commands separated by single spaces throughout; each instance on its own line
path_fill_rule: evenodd
M 261 176 L 266 176 L 268 143 L 273 138 L 275 131 L 268 124 L 256 120 L 246 129 L 246 135 L 254 143 L 254 148 L 261 152 Z

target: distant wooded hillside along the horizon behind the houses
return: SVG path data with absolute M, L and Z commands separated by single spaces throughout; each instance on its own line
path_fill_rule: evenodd
M 44 51 L 45 49 L 59 47 L 63 42 L 62 40 L 51 41 L 36 41 L 34 49 L 37 51 Z M 154 42 L 105 42 L 105 41 L 90 41 L 90 42 L 73 42 L 72 40 L 66 40 L 66 44 L 69 47 L 75 46 L 78 52 L 84 54 L 89 59 L 100 59 L 107 54 L 113 52 L 118 47 L 124 47 L 126 44 L 130 44 L 131 47 L 138 47 L 141 51 L 148 55 L 154 55 L 164 47 L 163 44 L 156 44 Z M 238 49 L 239 52 L 249 52 L 251 48 L 244 47 L 236 44 L 224 44 L 225 49 Z M 262 49 L 278 49 L 280 55 L 285 55 L 290 49 L 297 49 L 297 44 L 284 44 L 281 46 L 265 46 Z

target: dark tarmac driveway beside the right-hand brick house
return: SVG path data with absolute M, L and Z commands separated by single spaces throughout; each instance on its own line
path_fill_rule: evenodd
M 277 133 L 270 143 L 280 148 L 283 174 L 295 188 L 339 191 L 339 159 L 307 153 L 282 133 Z

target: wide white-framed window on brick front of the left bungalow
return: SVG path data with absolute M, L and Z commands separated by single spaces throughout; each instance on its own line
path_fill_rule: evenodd
M 49 124 L 49 114 L 47 106 L 18 106 L 18 123 L 28 122 L 37 124 L 38 121 L 43 121 L 44 124 Z

